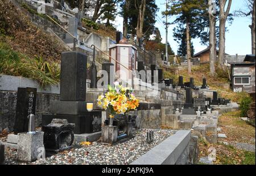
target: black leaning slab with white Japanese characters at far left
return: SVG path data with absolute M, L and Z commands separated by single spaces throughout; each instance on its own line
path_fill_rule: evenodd
M 14 134 L 28 131 L 28 115 L 35 114 L 36 88 L 18 87 Z

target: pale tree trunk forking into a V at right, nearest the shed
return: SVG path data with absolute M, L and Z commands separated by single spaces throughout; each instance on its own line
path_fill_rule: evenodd
M 219 0 L 220 3 L 220 38 L 218 44 L 218 67 L 224 67 L 225 57 L 225 26 L 226 18 L 228 18 L 229 10 L 231 7 L 232 0 L 228 0 L 228 7 L 225 11 L 225 5 L 227 0 Z

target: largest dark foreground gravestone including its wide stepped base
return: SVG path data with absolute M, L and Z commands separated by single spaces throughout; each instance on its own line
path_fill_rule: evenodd
M 86 109 L 86 58 L 77 51 L 61 54 L 60 101 L 52 102 L 52 114 L 42 115 L 43 126 L 57 118 L 75 123 L 75 134 L 101 131 L 101 111 Z

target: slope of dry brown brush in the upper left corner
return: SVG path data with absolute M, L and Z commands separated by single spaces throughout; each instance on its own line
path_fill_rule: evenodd
M 0 0 L 0 39 L 13 50 L 30 58 L 41 56 L 47 61 L 59 61 L 65 51 L 54 38 L 30 22 L 25 10 Z

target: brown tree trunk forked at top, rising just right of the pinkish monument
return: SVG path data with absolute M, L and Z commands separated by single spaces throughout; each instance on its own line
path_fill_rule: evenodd
M 135 7 L 137 7 L 137 1 L 135 1 Z M 142 38 L 142 35 L 143 35 L 144 16 L 146 11 L 146 0 L 142 0 L 141 5 L 137 7 L 137 10 L 138 10 L 138 21 L 137 21 L 137 28 L 136 28 L 136 37 L 137 37 L 136 44 L 139 45 L 139 40 Z

